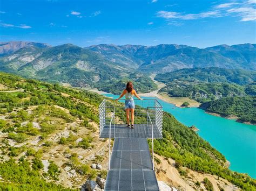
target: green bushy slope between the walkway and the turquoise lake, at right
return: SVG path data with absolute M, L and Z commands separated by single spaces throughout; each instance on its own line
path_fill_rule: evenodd
M 151 142 L 148 142 L 151 147 Z M 163 115 L 163 139 L 154 139 L 154 152 L 176 160 L 197 172 L 218 175 L 244 190 L 256 189 L 256 182 L 247 174 L 232 172 L 224 167 L 226 159 L 196 132 L 179 123 L 172 115 Z M 186 175 L 183 170 L 181 174 Z

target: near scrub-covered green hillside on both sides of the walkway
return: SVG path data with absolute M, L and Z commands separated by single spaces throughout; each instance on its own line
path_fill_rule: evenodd
M 107 143 L 97 132 L 103 96 L 5 73 L 0 89 L 1 189 L 80 188 L 106 176 Z M 154 140 L 155 152 L 177 160 L 181 175 L 185 166 L 256 189 L 255 180 L 224 167 L 221 153 L 167 113 L 163 135 Z M 91 169 L 92 162 L 103 169 Z

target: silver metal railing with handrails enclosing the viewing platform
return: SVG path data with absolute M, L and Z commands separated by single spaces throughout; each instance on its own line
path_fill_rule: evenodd
M 99 105 L 99 134 L 109 131 L 109 169 L 111 157 L 111 138 L 116 138 L 116 126 L 126 124 L 125 100 L 105 99 Z M 134 124 L 146 128 L 146 138 L 152 139 L 152 163 L 154 170 L 154 138 L 162 137 L 163 107 L 156 99 L 134 100 Z M 113 130 L 113 136 L 111 131 Z M 158 135 L 158 137 L 154 136 Z

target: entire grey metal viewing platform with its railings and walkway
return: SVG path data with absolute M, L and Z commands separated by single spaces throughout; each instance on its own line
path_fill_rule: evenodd
M 109 138 L 105 190 L 159 190 L 154 173 L 153 139 L 163 137 L 163 108 L 155 99 L 134 102 L 134 129 L 126 127 L 124 100 L 104 100 L 99 106 L 100 138 Z M 112 153 L 111 138 L 114 138 Z M 147 138 L 152 139 L 152 156 Z

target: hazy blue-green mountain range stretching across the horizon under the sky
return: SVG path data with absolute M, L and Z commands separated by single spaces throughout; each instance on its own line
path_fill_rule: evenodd
M 0 43 L 0 70 L 40 80 L 102 89 L 133 80 L 150 84 L 149 74 L 183 68 L 232 68 L 256 70 L 256 44 L 197 48 L 187 45 L 50 46 L 11 41 Z M 146 74 L 146 75 L 145 75 Z M 134 76 L 135 79 L 134 79 Z

